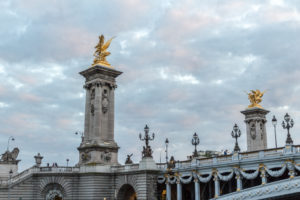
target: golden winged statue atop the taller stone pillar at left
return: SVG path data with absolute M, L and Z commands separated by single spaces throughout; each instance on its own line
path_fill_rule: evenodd
M 106 67 L 111 67 L 111 65 L 107 62 L 106 56 L 110 55 L 110 52 L 107 51 L 111 41 L 114 39 L 114 37 L 110 38 L 105 44 L 104 44 L 104 36 L 100 35 L 99 36 L 99 42 L 97 46 L 95 46 L 95 59 L 93 66 L 99 64 L 99 65 L 104 65 Z

